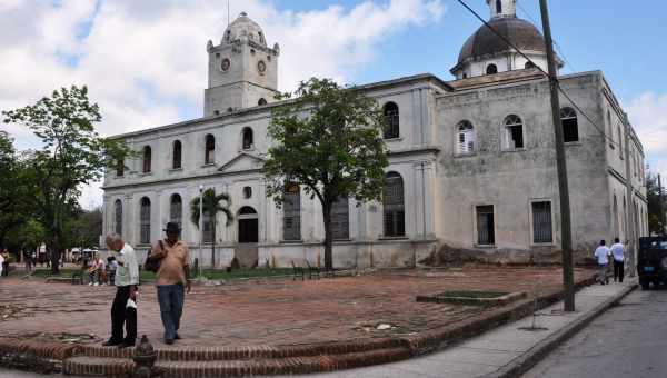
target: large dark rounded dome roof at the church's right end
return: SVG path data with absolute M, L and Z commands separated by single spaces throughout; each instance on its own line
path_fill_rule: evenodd
M 546 42 L 537 28 L 516 17 L 494 18 L 489 26 L 522 51 L 547 51 Z M 509 51 L 511 48 L 486 24 L 481 26 L 464 44 L 459 64 L 485 56 Z

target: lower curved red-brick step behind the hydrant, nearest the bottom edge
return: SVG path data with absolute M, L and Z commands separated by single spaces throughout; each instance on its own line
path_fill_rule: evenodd
M 387 348 L 340 355 L 243 360 L 159 360 L 161 377 L 242 377 L 262 375 L 312 374 L 387 364 L 410 358 L 408 348 Z M 135 362 L 129 358 L 78 356 L 64 360 L 62 372 L 78 376 L 126 377 Z

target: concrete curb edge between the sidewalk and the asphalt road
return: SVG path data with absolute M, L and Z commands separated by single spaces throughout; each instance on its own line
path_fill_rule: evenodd
M 633 292 L 637 288 L 638 284 L 633 284 L 631 286 L 625 288 L 623 291 L 617 294 L 615 297 L 607 299 L 603 304 L 598 305 L 587 315 L 576 319 L 571 324 L 565 326 L 565 328 L 560 329 L 556 334 L 547 337 L 546 339 L 539 341 L 528 351 L 517 357 L 510 364 L 500 368 L 500 370 L 481 376 L 482 378 L 514 378 L 519 377 L 524 372 L 530 370 L 534 366 L 536 366 L 539 361 L 541 361 L 548 354 L 558 348 L 563 342 L 567 341 L 569 338 L 579 332 L 583 328 L 588 326 L 593 320 L 595 320 L 600 314 L 608 310 L 610 307 L 616 305 L 619 300 L 625 298 L 628 294 Z

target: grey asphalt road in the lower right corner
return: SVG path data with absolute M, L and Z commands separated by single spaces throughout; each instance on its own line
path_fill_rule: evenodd
M 635 290 L 522 378 L 667 377 L 667 289 Z

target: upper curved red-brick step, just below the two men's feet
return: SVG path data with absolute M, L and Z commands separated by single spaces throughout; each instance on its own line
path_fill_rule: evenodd
M 161 361 L 219 361 L 309 357 L 320 355 L 342 355 L 401 347 L 397 339 L 371 339 L 346 342 L 322 342 L 293 346 L 248 346 L 248 347 L 172 347 L 156 348 Z M 118 349 L 102 346 L 81 346 L 78 356 L 103 358 L 131 358 L 133 348 Z

